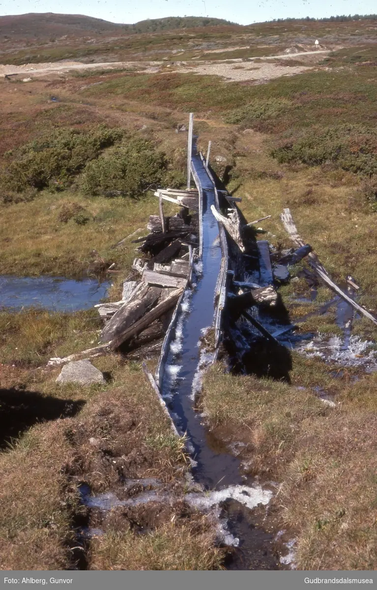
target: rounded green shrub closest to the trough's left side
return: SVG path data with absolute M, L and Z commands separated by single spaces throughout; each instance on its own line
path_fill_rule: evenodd
M 153 183 L 166 180 L 168 160 L 146 139 L 130 139 L 106 158 L 88 162 L 81 189 L 90 195 L 137 198 Z

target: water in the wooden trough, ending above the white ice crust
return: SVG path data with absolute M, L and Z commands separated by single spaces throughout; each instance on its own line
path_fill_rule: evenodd
M 214 186 L 202 165 L 199 156 L 193 156 L 192 162 L 199 176 L 203 189 L 203 254 L 202 269 L 197 276 L 197 284 L 189 301 L 189 313 L 181 322 L 181 349 L 175 352 L 171 347 L 166 371 L 162 383 L 162 395 L 168 401 L 169 409 L 176 418 L 177 427 L 187 432 L 192 445 L 192 457 L 196 463 L 194 475 L 196 480 L 212 489 L 221 483 L 240 484 L 240 461 L 229 454 L 222 454 L 208 446 L 206 428 L 201 417 L 193 408 L 195 376 L 200 362 L 199 339 L 203 330 L 212 325 L 214 320 L 214 299 L 221 264 L 221 247 L 218 240 L 218 224 L 212 214 L 211 205 L 215 204 Z M 184 313 L 184 312 L 181 312 Z M 179 323 L 179 319 L 178 319 Z

